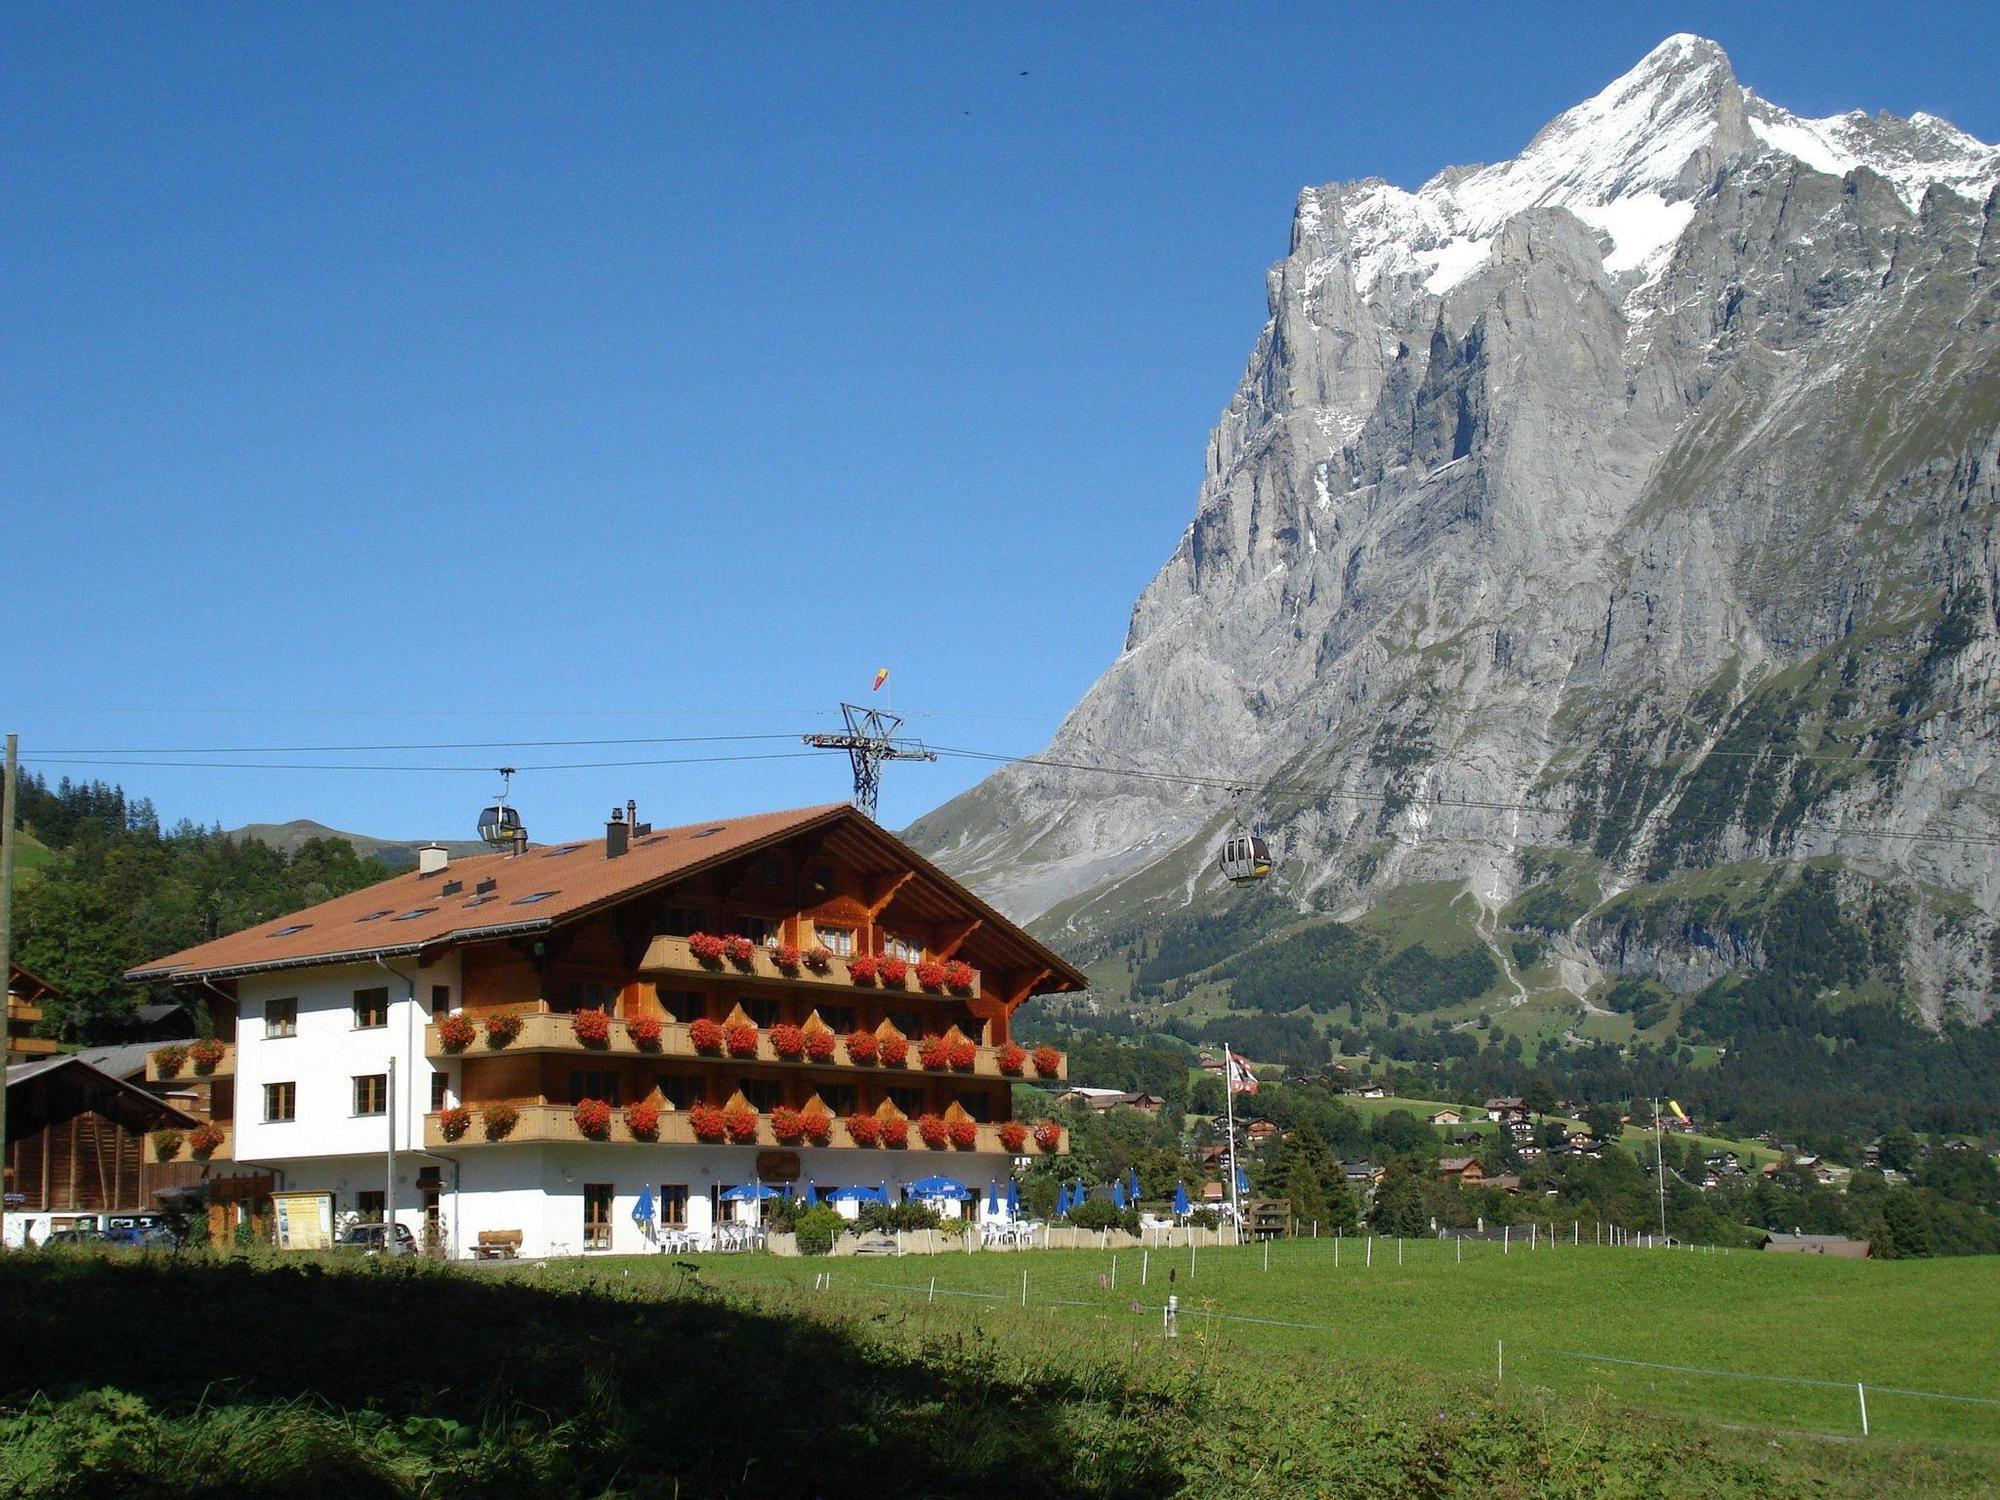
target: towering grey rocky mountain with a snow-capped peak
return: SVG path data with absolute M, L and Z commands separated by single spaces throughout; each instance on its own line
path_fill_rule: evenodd
M 1876 976 L 1984 1014 L 1996 184 L 1676 36 L 1510 162 L 1302 192 L 1194 522 L 1046 754 L 1188 780 L 1012 766 L 912 838 L 1084 952 L 1214 906 L 1234 816 L 1292 912 L 1440 882 L 1498 932 L 1560 866 L 1578 994 L 1712 968 L 1634 904 L 1838 868 Z

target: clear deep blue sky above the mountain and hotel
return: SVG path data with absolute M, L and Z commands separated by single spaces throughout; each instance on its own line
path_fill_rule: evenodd
M 10 6 L 0 728 L 392 836 L 502 762 L 796 750 L 876 666 L 1032 752 L 1192 516 L 1298 188 L 1510 156 L 1676 30 L 2000 138 L 1970 6 Z M 72 754 L 714 734 L 778 738 Z M 516 784 L 544 836 L 844 794 Z

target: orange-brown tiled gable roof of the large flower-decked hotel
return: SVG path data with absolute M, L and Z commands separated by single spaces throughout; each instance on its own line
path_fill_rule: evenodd
M 1084 976 L 1060 956 L 846 802 L 660 828 L 634 838 L 628 852 L 618 858 L 606 858 L 600 834 L 534 846 L 526 854 L 474 854 L 452 860 L 442 872 L 428 876 L 408 870 L 366 890 L 140 964 L 128 970 L 126 978 L 220 978 L 540 932 L 626 900 L 648 886 L 682 880 L 702 866 L 840 822 L 852 822 L 866 834 L 886 840 L 902 860 L 948 884 L 980 910 L 988 926 L 1002 928 L 1046 962 L 1052 978 L 1076 988 L 1086 984 Z M 482 892 L 480 886 L 488 880 L 492 888 Z M 444 894 L 454 882 L 458 890 Z

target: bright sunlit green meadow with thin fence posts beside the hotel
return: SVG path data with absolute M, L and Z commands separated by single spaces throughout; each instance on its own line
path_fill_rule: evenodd
M 1030 1312 L 1116 1344 L 1160 1334 L 1172 1270 L 1182 1340 L 1472 1378 L 1494 1376 L 1504 1342 L 1512 1384 L 1826 1436 L 1860 1436 L 1860 1380 L 1876 1440 L 2000 1454 L 2000 1260 L 1854 1262 L 1546 1240 L 1506 1252 L 1408 1240 L 1400 1266 L 1396 1254 L 1394 1240 L 1376 1240 L 1368 1264 L 1366 1240 L 1350 1238 L 1336 1268 L 1332 1240 L 1284 1240 L 1270 1248 L 1270 1270 L 1262 1248 L 1248 1246 L 1198 1250 L 1190 1274 L 1182 1248 L 1146 1256 L 1142 1286 L 1142 1256 L 1124 1250 L 1116 1288 L 1112 1256 L 1100 1252 L 700 1264 L 720 1286 L 810 1286 L 832 1272 L 838 1296 L 922 1302 L 956 1320 L 982 1308 L 1018 1312 L 1026 1272 Z M 660 1260 L 616 1264 L 638 1278 L 678 1274 Z

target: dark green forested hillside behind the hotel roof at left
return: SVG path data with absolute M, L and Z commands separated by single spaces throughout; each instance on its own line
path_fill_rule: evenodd
M 66 1042 L 96 1040 L 146 998 L 182 998 L 126 984 L 128 968 L 394 874 L 336 838 L 282 854 L 220 826 L 162 828 L 152 802 L 104 782 L 24 774 L 18 818 L 50 854 L 16 860 L 14 962 L 62 992 L 40 1030 Z

